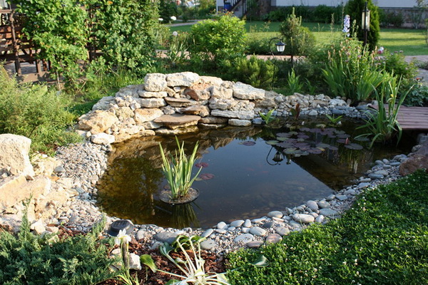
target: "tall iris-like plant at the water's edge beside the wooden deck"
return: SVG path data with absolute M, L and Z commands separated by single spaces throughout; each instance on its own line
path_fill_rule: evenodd
M 400 84 L 401 80 L 397 82 L 397 78 L 390 76 L 390 78 L 382 84 L 380 94 L 375 90 L 377 103 L 379 104 L 378 110 L 375 110 L 374 114 L 367 113 L 368 119 L 365 120 L 366 124 L 358 127 L 367 128 L 369 133 L 365 133 L 357 137 L 373 135 L 370 147 L 372 147 L 374 142 L 387 142 L 388 140 L 391 140 L 397 133 L 398 141 L 401 139 L 402 128 L 398 123 L 397 115 L 400 106 L 412 88 L 402 94 L 397 101 Z M 384 101 L 386 101 L 386 104 Z

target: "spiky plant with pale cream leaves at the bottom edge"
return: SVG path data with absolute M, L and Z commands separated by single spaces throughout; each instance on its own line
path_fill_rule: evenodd
M 205 272 L 204 264 L 205 260 L 200 257 L 200 242 L 201 239 L 196 242 L 197 249 L 195 249 L 195 244 L 193 243 L 192 238 L 186 239 L 186 244 L 190 247 L 190 254 L 185 250 L 183 244 L 180 242 L 181 236 L 175 239 L 176 245 L 179 247 L 180 251 L 184 254 L 185 260 L 177 258 L 173 259 L 170 256 L 170 252 L 173 250 L 173 247 L 170 247 L 168 243 L 164 243 L 159 247 L 161 254 L 169 259 L 175 266 L 177 266 L 180 271 L 183 272 L 183 275 L 174 274 L 168 271 L 163 271 L 156 267 L 155 262 L 152 257 L 148 254 L 144 254 L 140 257 L 141 263 L 146 264 L 153 272 L 161 271 L 165 274 L 170 274 L 176 278 L 182 279 L 172 279 L 168 284 L 212 284 L 212 285 L 229 285 L 228 279 L 224 273 L 215 273 L 215 272 Z M 181 265 L 180 265 L 181 264 Z

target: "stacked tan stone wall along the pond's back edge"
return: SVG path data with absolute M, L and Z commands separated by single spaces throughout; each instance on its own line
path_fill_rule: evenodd
M 194 133 L 199 128 L 248 126 L 261 123 L 260 111 L 275 108 L 275 115 L 287 116 L 297 104 L 307 115 L 347 107 L 344 100 L 322 94 L 285 97 L 191 72 L 151 73 L 144 82 L 99 100 L 91 113 L 79 118 L 78 132 L 93 143 L 108 145 L 149 135 Z

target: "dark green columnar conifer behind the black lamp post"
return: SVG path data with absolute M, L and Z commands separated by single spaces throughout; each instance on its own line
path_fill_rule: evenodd
M 356 21 L 356 26 L 351 25 L 351 35 L 356 34 L 360 41 L 364 41 L 364 32 L 362 31 L 361 14 L 365 9 L 366 0 L 350 0 L 345 5 L 345 14 L 351 16 L 351 22 Z M 370 31 L 367 32 L 367 45 L 370 51 L 375 51 L 379 41 L 379 12 L 372 0 L 367 1 L 367 9 L 370 10 Z

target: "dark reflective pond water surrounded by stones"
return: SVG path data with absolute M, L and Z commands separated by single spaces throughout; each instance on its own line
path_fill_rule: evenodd
M 158 193 L 167 185 L 158 143 L 176 149 L 174 137 L 129 140 L 116 145 L 98 181 L 98 204 L 114 217 L 162 227 L 212 227 L 253 219 L 272 210 L 320 199 L 352 184 L 374 160 L 408 153 L 414 141 L 377 146 L 355 140 L 355 124 L 323 128 L 320 121 L 287 128 L 223 128 L 181 135 L 186 153 L 199 142 L 194 202 L 170 205 Z M 327 122 L 324 122 L 327 125 Z M 193 171 L 197 172 L 198 167 Z

